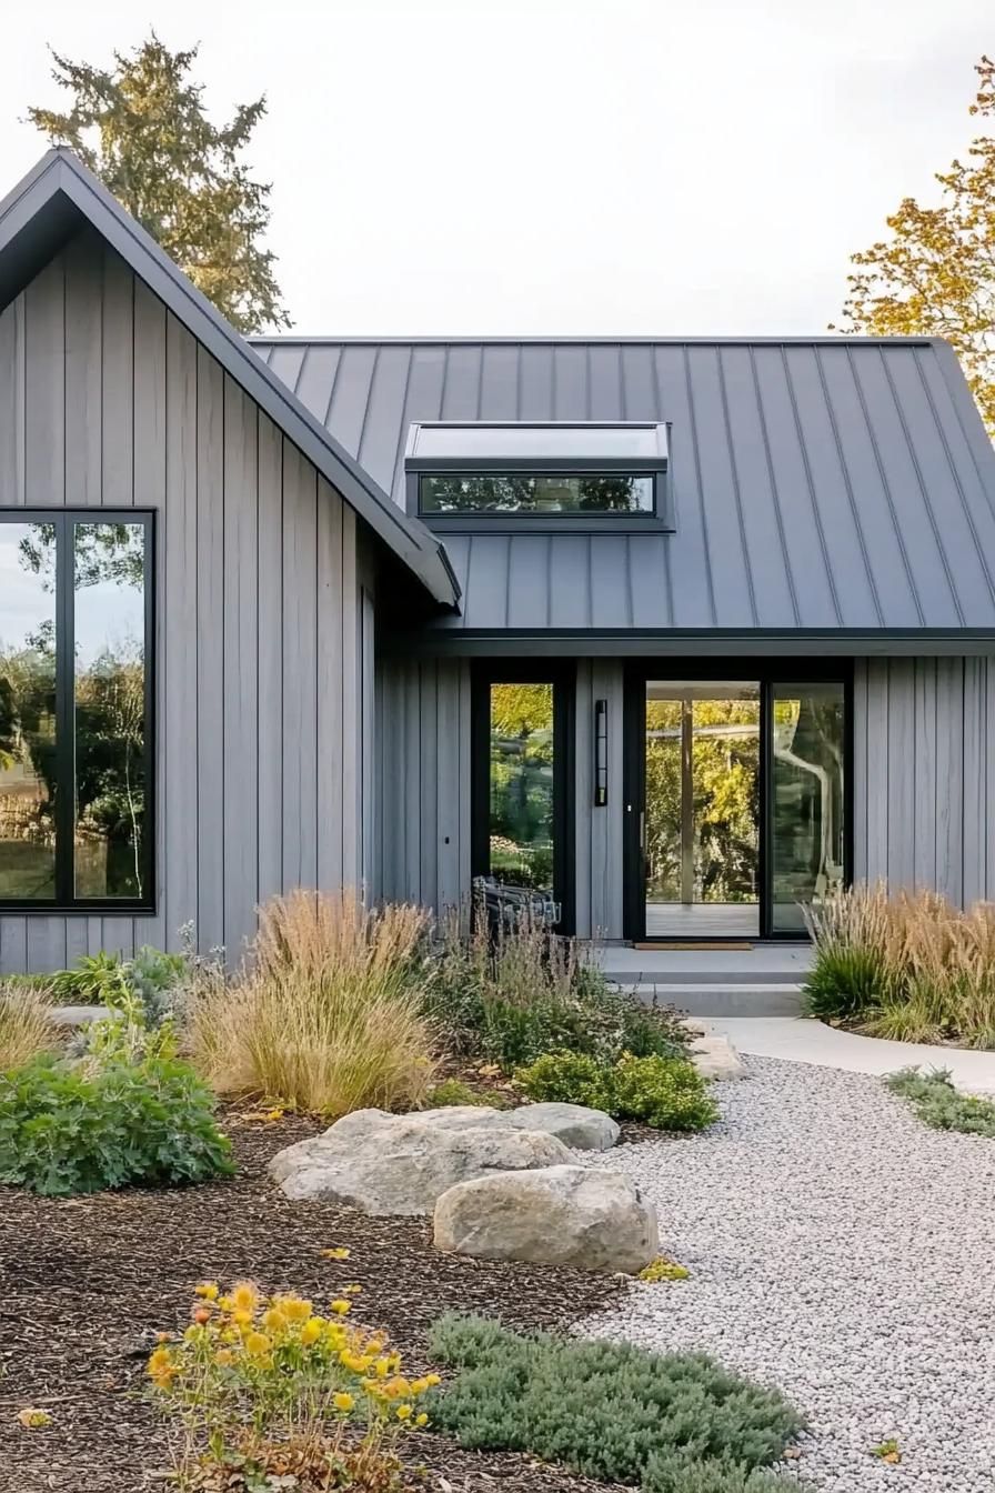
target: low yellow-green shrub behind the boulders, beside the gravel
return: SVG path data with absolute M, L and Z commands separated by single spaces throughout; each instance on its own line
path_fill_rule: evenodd
M 655 1130 L 704 1130 L 719 1114 L 706 1079 L 682 1057 L 627 1053 L 609 1065 L 583 1053 L 546 1053 L 516 1078 L 537 1102 L 589 1105 Z

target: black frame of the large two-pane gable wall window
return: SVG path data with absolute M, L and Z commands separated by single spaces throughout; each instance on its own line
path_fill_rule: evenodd
M 0 508 L 0 524 L 51 524 L 55 529 L 55 896 L 37 899 L 0 899 L 0 914 L 18 917 L 61 917 L 88 914 L 155 915 L 155 512 L 140 508 Z M 145 617 L 145 699 L 143 699 L 143 758 L 145 811 L 142 836 L 143 885 L 142 897 L 78 897 L 75 891 L 75 820 L 76 820 L 76 636 L 75 594 L 76 566 L 73 532 L 76 524 L 139 524 L 143 529 L 142 585 Z M 70 563 L 66 564 L 66 555 Z M 63 785 L 69 784 L 69 791 Z

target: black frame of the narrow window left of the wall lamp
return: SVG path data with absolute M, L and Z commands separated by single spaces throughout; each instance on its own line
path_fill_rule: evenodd
M 573 933 L 576 918 L 576 694 L 573 661 L 476 660 L 470 675 L 470 872 L 491 875 L 491 685 L 553 687 L 553 899 L 558 933 Z

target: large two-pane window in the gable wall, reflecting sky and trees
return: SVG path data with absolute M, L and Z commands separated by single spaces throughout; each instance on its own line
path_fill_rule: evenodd
M 152 905 L 151 515 L 0 514 L 0 906 Z

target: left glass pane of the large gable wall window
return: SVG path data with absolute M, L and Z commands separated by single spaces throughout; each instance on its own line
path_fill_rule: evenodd
M 55 897 L 52 524 L 0 523 L 0 899 Z

